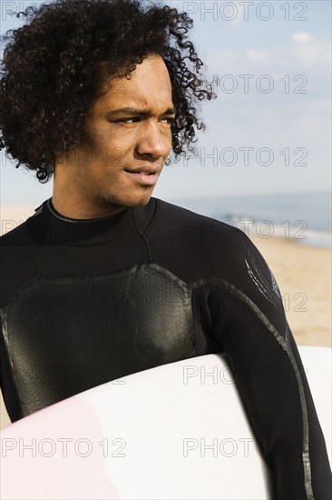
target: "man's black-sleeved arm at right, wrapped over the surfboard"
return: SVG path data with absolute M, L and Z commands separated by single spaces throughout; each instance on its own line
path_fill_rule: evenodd
M 327 449 L 278 285 L 246 235 L 233 253 L 227 279 L 217 271 L 200 280 L 210 333 L 228 355 L 278 500 L 327 500 Z

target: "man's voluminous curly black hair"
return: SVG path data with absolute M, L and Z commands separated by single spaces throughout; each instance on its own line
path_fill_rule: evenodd
M 27 7 L 23 27 L 8 30 L 0 68 L 0 149 L 35 170 L 40 182 L 55 159 L 80 142 L 99 75 L 126 76 L 148 55 L 161 55 L 170 73 L 176 109 L 171 127 L 175 157 L 205 129 L 197 104 L 215 98 L 203 85 L 203 65 L 187 33 L 192 19 L 168 5 L 144 0 L 56 0 Z

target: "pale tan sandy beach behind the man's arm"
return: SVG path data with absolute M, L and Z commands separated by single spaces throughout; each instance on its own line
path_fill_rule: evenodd
M 298 345 L 331 346 L 331 250 L 278 237 L 250 238 L 277 279 Z M 8 423 L 1 401 L 0 425 Z

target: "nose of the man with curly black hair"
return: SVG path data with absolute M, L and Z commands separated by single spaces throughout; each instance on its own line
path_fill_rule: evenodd
M 142 122 L 136 151 L 139 155 L 167 158 L 171 152 L 171 128 L 153 119 Z

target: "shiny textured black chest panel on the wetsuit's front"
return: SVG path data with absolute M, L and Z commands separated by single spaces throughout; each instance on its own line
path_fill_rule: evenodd
M 190 291 L 159 265 L 37 278 L 2 318 L 24 415 L 195 354 Z

